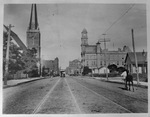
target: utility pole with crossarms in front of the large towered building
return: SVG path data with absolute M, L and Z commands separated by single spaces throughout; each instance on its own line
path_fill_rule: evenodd
M 107 72 L 107 65 L 106 65 L 106 42 L 110 42 L 110 39 L 106 39 L 105 38 L 105 35 L 106 34 L 102 34 L 102 35 L 104 35 L 104 39 L 101 39 L 101 40 L 99 40 L 99 42 L 104 42 L 104 66 L 106 67 L 106 78 L 107 78 L 107 80 L 108 80 L 108 72 Z

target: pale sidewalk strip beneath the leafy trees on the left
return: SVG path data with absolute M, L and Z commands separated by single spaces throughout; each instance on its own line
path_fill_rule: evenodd
M 4 84 L 3 84 L 3 88 L 13 87 L 13 86 L 17 86 L 17 85 L 20 85 L 20 84 L 32 82 L 32 81 L 35 81 L 35 80 L 40 80 L 40 79 L 43 79 L 43 78 L 44 78 L 44 77 L 8 80 L 8 81 L 7 81 L 7 85 L 4 85 Z

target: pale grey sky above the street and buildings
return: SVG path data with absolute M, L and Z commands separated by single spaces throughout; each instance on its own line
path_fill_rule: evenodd
M 25 45 L 30 13 L 31 4 L 4 5 L 4 24 L 14 25 L 12 30 Z M 81 32 L 84 28 L 88 32 L 89 45 L 95 45 L 106 33 L 105 37 L 110 39 L 108 50 L 117 50 L 124 45 L 133 50 L 131 29 L 134 29 L 135 50 L 147 51 L 145 4 L 37 4 L 37 15 L 42 59 L 58 57 L 61 68 L 69 66 L 69 61 L 81 59 Z M 101 48 L 104 49 L 103 43 Z

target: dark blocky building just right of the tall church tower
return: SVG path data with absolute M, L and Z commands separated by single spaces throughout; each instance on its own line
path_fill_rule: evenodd
M 59 74 L 59 59 L 56 57 L 54 60 L 43 60 L 42 68 L 49 74 Z

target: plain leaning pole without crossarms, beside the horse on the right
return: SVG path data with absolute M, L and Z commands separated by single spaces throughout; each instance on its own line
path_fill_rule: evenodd
M 135 68 L 136 68 L 136 75 L 137 75 L 137 84 L 139 85 L 139 71 L 138 71 L 138 64 L 137 64 L 137 56 L 135 53 L 135 44 L 134 44 L 134 31 L 131 30 L 132 33 L 132 46 L 133 46 L 133 52 L 134 52 L 134 58 L 135 58 Z

